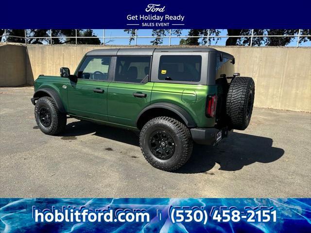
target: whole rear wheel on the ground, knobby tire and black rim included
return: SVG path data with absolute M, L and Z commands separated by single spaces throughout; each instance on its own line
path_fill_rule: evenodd
M 181 122 L 167 116 L 149 120 L 139 135 L 142 154 L 155 168 L 173 171 L 190 158 L 193 141 L 190 130 Z

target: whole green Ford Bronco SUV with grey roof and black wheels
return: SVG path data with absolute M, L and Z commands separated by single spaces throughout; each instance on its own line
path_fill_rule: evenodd
M 66 128 L 67 115 L 140 131 L 145 159 L 172 171 L 190 158 L 193 142 L 215 145 L 250 121 L 255 84 L 234 71 L 234 57 L 210 48 L 100 49 L 74 74 L 40 75 L 35 120 L 43 133 Z

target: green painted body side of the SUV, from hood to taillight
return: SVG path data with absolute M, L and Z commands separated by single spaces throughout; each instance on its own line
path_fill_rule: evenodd
M 178 83 L 116 83 L 69 78 L 39 76 L 35 80 L 35 91 L 51 88 L 60 96 L 68 115 L 96 123 L 137 129 L 139 113 L 150 104 L 173 103 L 183 108 L 197 127 L 214 127 L 215 119 L 207 118 L 207 95 L 217 94 L 216 85 L 194 85 Z M 103 93 L 93 89 L 102 89 Z M 133 93 L 146 94 L 145 98 Z

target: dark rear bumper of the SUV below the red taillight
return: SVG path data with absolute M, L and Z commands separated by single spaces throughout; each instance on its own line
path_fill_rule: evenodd
M 197 144 L 215 145 L 223 138 L 227 137 L 232 130 L 223 128 L 221 130 L 216 128 L 193 128 L 190 129 L 192 139 Z

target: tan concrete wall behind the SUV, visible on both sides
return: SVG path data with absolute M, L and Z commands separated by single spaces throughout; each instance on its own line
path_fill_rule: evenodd
M 2 49 L 6 51 L 5 53 L 1 52 L 2 47 L 7 47 Z M 59 75 L 60 67 L 69 67 L 73 73 L 87 51 L 114 48 L 110 46 L 28 45 L 25 50 L 24 46 L 15 47 L 0 46 L 0 66 L 5 70 L 4 73 L 0 72 L 2 73 L 0 86 L 21 85 L 25 84 L 26 80 L 27 83 L 33 84 L 39 74 Z M 214 48 L 234 55 L 236 71 L 240 72 L 241 76 L 254 78 L 256 107 L 311 112 L 311 48 Z M 26 53 L 24 56 L 22 51 Z M 10 60 L 2 54 L 11 54 Z M 12 65 L 14 63 L 12 57 L 19 61 L 19 66 Z M 26 68 L 21 66 L 22 57 L 24 57 Z M 6 67 L 3 64 L 11 65 Z

